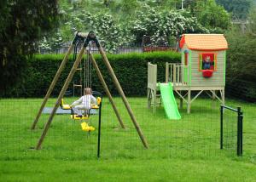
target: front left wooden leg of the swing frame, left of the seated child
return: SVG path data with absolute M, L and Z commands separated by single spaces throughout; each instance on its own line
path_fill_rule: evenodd
M 43 131 L 43 133 L 42 133 L 40 139 L 38 140 L 38 145 L 37 145 L 37 147 L 36 147 L 37 150 L 40 149 L 42 143 L 44 142 L 44 137 L 45 137 L 45 135 L 47 134 L 48 129 L 49 129 L 49 126 L 50 126 L 50 124 L 51 124 L 51 122 L 52 122 L 52 119 L 53 119 L 53 117 L 55 116 L 55 112 L 57 111 L 57 109 L 58 109 L 58 107 L 59 107 L 59 105 L 60 105 L 60 103 L 61 103 L 61 99 L 62 99 L 63 95 L 65 94 L 65 92 L 66 92 L 66 90 L 67 90 L 67 88 L 68 88 L 68 85 L 69 85 L 69 83 L 71 82 L 71 80 L 72 80 L 72 78 L 73 78 L 73 75 L 74 75 L 75 72 L 77 71 L 77 68 L 78 68 L 78 66 L 79 66 L 80 61 L 82 60 L 82 57 L 83 57 L 83 54 L 84 54 L 84 49 L 85 49 L 85 48 L 83 47 L 83 48 L 80 50 L 79 56 L 78 56 L 77 60 L 75 60 L 75 62 L 73 63 L 73 67 L 72 67 L 71 71 L 69 72 L 69 74 L 68 74 L 68 76 L 67 76 L 67 80 L 66 80 L 66 82 L 64 83 L 63 87 L 61 88 L 61 92 L 60 92 L 60 94 L 59 94 L 59 96 L 58 96 L 58 99 L 57 99 L 56 102 L 55 102 L 55 106 L 54 106 L 53 110 L 52 110 L 51 113 L 50 113 L 48 122 L 46 122 L 46 124 L 44 125 L 44 131 Z

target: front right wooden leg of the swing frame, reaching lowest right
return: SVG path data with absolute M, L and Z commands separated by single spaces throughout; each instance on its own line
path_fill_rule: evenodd
M 110 73 L 110 75 L 111 75 L 111 77 L 112 77 L 112 79 L 113 79 L 113 82 L 114 82 L 114 84 L 115 84 L 115 87 L 118 89 L 119 94 L 120 94 L 121 97 L 122 97 L 122 100 L 123 100 L 123 102 L 124 102 L 124 104 L 125 104 L 125 107 L 126 107 L 128 113 L 129 113 L 130 117 L 131 117 L 131 121 L 133 122 L 133 124 L 134 124 L 134 126 L 135 126 L 135 128 L 136 128 L 136 130 L 137 130 L 137 133 L 138 133 L 140 139 L 141 139 L 142 142 L 143 142 L 144 147 L 145 147 L 145 148 L 148 148 L 148 142 L 147 142 L 147 140 L 145 139 L 145 137 L 143 136 L 143 132 L 142 132 L 141 128 L 139 127 L 139 124 L 137 123 L 137 120 L 136 120 L 136 118 L 135 118 L 135 116 L 134 116 L 134 114 L 133 114 L 133 112 L 132 112 L 132 110 L 131 110 L 131 106 L 130 106 L 128 100 L 127 100 L 126 97 L 125 97 L 124 91 L 123 91 L 123 89 L 121 88 L 120 83 L 119 83 L 117 77 L 115 76 L 115 74 L 114 74 L 114 72 L 113 72 L 113 68 L 112 68 L 112 66 L 111 66 L 110 63 L 109 63 L 108 58 L 107 58 L 105 52 L 103 51 L 102 46 L 99 45 L 98 48 L 99 48 L 100 53 L 102 54 L 103 61 L 104 61 L 105 65 L 106 65 L 107 68 L 108 68 L 108 72 Z

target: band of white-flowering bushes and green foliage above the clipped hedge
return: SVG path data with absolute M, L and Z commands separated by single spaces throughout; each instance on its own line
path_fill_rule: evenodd
M 143 36 L 165 44 L 182 33 L 223 33 L 230 27 L 230 15 L 214 0 L 184 1 L 60 1 L 61 26 L 55 35 L 44 37 L 40 48 L 52 48 L 59 40 L 68 42 L 75 31 L 96 31 L 106 50 L 120 45 L 141 44 Z M 59 34 L 58 34 L 59 33 Z M 54 40 L 50 36 L 59 37 Z M 61 44 L 60 44 L 61 45 Z

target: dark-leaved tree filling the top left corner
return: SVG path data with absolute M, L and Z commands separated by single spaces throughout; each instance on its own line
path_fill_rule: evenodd
M 2 0 L 0 9 L 1 91 L 17 82 L 38 38 L 55 28 L 58 12 L 56 0 Z

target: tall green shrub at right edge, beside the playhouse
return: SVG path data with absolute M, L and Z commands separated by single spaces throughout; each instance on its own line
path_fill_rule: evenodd
M 256 100 L 256 38 L 231 31 L 227 35 L 227 93 L 242 100 Z

